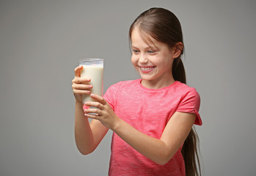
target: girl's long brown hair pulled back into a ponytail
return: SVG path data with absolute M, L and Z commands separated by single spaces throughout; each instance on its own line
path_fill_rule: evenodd
M 134 23 L 131 24 L 129 30 L 129 38 L 131 43 L 131 32 L 134 28 L 142 32 L 142 37 L 150 42 L 150 37 L 169 45 L 169 48 L 178 47 L 177 43 L 183 43 L 183 33 L 178 18 L 169 10 L 163 8 L 151 8 L 139 15 Z M 184 52 L 184 46 L 180 49 L 180 56 L 174 59 L 172 63 L 172 76 L 176 81 L 186 84 L 186 72 L 181 60 Z M 200 159 L 197 151 L 198 136 L 194 128 L 191 129 L 187 136 L 181 153 L 184 158 L 186 167 L 186 176 L 201 175 Z M 199 145 L 198 145 L 199 146 Z M 197 167 L 198 166 L 198 167 Z

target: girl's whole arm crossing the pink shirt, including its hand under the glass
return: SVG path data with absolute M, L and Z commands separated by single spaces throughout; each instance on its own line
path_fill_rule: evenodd
M 99 120 L 139 153 L 161 165 L 166 164 L 183 144 L 196 118 L 195 114 L 175 112 L 167 123 L 161 138 L 156 139 L 137 131 L 117 117 L 106 100 L 100 96 L 92 95 L 92 98 L 98 100 L 98 103 L 89 102 L 87 106 L 97 106 L 99 109 L 87 109 L 86 112 L 95 112 L 98 115 L 86 114 L 87 117 Z

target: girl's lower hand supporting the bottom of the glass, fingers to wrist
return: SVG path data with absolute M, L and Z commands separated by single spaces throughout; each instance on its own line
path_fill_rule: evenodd
M 86 102 L 86 106 L 96 107 L 98 109 L 84 109 L 84 115 L 88 118 L 99 120 L 106 128 L 113 129 L 117 124 L 119 117 L 114 113 L 109 103 L 100 95 L 90 95 L 97 102 Z M 88 114 L 94 113 L 94 114 Z

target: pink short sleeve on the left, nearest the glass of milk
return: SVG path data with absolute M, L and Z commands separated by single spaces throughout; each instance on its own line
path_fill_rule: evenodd
M 114 106 L 117 100 L 117 90 L 119 89 L 122 82 L 118 82 L 116 84 L 111 85 L 103 95 L 103 98 L 109 103 L 111 109 L 114 110 Z

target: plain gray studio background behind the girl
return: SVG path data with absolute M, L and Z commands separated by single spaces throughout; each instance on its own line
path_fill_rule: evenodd
M 181 21 L 188 84 L 200 92 L 204 175 L 256 175 L 255 1 L 0 1 L 0 175 L 107 175 L 111 132 L 74 141 L 73 69 L 105 59 L 104 91 L 137 78 L 128 28 L 164 7 Z

